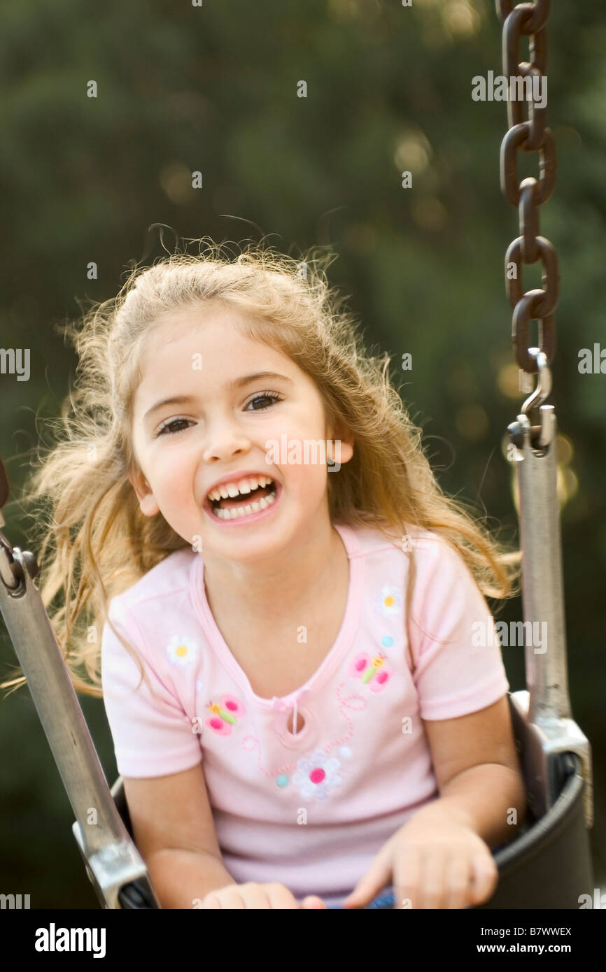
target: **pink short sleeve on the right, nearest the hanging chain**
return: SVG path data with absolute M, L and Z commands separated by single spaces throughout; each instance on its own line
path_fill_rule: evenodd
M 445 540 L 419 541 L 414 555 L 418 593 L 411 599 L 410 640 L 421 718 L 478 712 L 510 688 L 488 605 Z

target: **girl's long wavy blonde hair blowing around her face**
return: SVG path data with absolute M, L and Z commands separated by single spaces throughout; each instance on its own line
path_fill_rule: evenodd
M 482 595 L 516 595 L 519 550 L 503 548 L 441 490 L 421 430 L 390 381 L 389 356 L 366 351 L 343 298 L 328 284 L 323 264 L 333 255 L 295 260 L 251 244 L 230 259 L 222 245 L 206 240 L 197 241 L 197 256 L 177 252 L 135 267 L 116 297 L 93 302 L 79 322 L 62 326 L 80 361 L 61 416 L 50 421 L 56 441 L 43 459 L 38 450 L 21 503 L 42 501 L 33 519 L 40 534 L 38 583 L 75 689 L 102 695 L 96 633 L 108 621 L 111 598 L 190 546 L 161 513 L 148 517 L 139 508 L 128 479 L 137 469 L 131 418 L 150 332 L 167 313 L 210 302 L 239 311 L 246 336 L 298 364 L 315 382 L 327 421 L 352 434 L 352 459 L 327 477 L 333 524 L 374 526 L 392 541 L 409 536 L 410 527 L 433 531 L 461 554 Z M 413 547 L 404 552 L 408 626 Z M 121 641 L 144 675 L 133 646 Z M 25 682 L 20 669 L 11 674 L 18 677 L 0 688 Z

